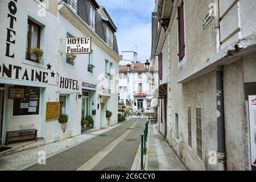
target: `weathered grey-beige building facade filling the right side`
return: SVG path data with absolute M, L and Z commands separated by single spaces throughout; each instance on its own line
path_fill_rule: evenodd
M 158 1 L 159 131 L 188 169 L 255 170 L 255 11 L 250 0 Z

